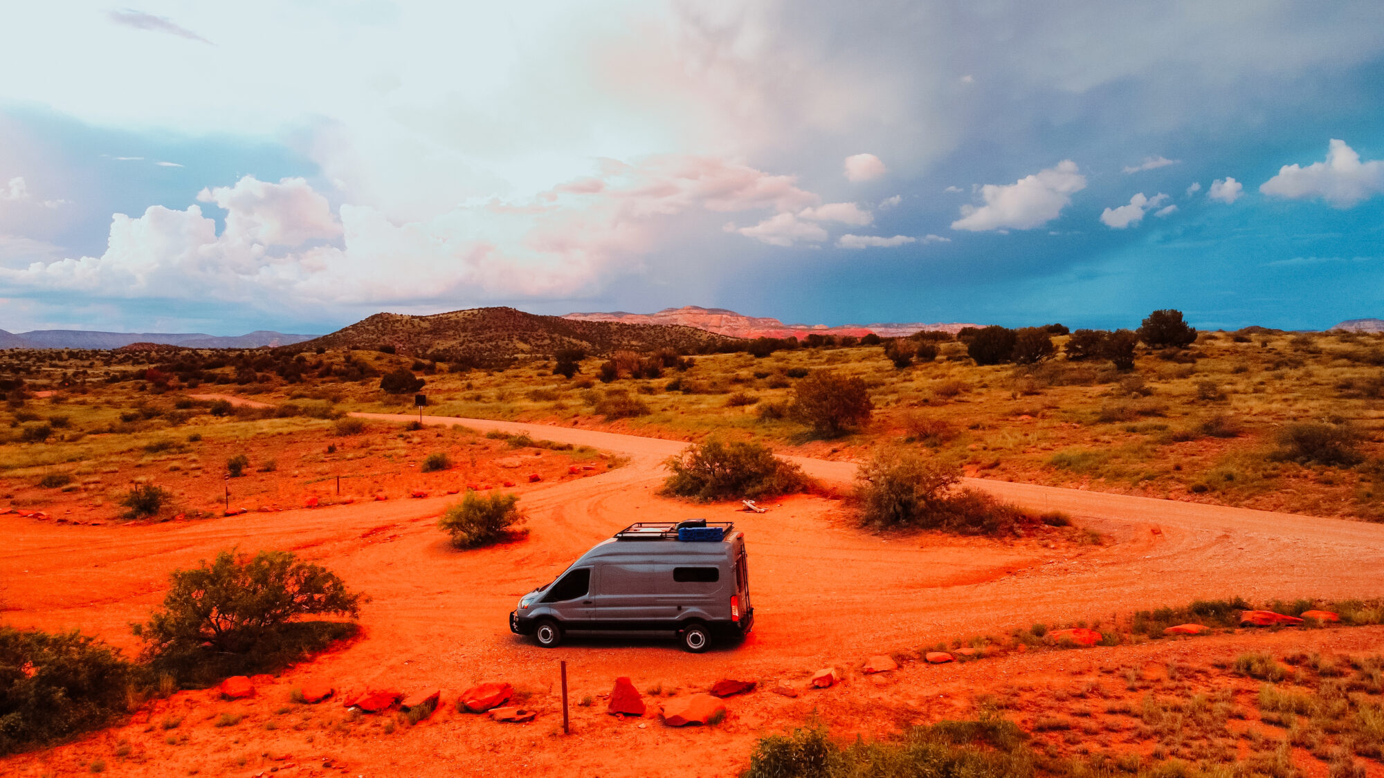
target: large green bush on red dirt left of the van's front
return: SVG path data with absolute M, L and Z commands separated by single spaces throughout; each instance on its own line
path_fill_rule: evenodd
M 282 667 L 356 631 L 354 624 L 303 616 L 360 615 L 360 594 L 288 551 L 221 551 L 169 579 L 162 610 L 136 624 L 134 634 L 149 669 L 183 685 Z

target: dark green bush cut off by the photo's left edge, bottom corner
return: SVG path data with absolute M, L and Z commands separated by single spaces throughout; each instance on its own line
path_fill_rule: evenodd
M 0 756 L 104 725 L 126 712 L 138 680 L 93 637 L 0 626 Z

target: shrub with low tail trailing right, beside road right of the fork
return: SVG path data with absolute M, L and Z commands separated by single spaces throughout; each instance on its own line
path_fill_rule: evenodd
M 988 494 L 956 489 L 956 467 L 904 449 L 877 450 L 855 478 L 859 518 L 868 526 L 1010 534 L 1038 521 Z

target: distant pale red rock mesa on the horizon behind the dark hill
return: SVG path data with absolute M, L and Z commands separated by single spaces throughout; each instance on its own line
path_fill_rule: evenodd
M 875 332 L 884 338 L 912 335 L 923 329 L 940 329 L 955 335 L 962 327 L 978 327 L 976 324 L 846 324 L 841 327 L 828 327 L 825 324 L 783 324 L 772 317 L 743 316 L 724 307 L 666 307 L 659 313 L 569 313 L 563 318 L 570 321 L 619 321 L 624 324 L 680 324 L 729 335 L 732 338 L 797 338 L 803 339 L 811 334 L 819 335 L 866 335 Z

